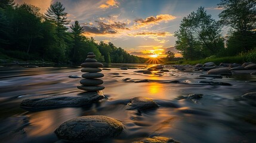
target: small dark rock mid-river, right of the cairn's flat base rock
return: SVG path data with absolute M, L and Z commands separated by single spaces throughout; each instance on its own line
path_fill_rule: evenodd
M 149 110 L 159 107 L 158 104 L 150 98 L 135 97 L 125 106 L 126 110 Z

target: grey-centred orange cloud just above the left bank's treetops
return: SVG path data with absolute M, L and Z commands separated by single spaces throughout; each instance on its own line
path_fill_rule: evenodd
M 95 21 L 97 27 L 92 24 L 84 26 L 85 35 L 115 35 L 122 30 L 129 30 L 126 23 L 115 21 L 113 23 L 104 23 L 103 21 Z

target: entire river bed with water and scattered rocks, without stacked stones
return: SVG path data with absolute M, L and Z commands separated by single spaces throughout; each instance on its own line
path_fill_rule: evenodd
M 87 128 L 79 141 L 254 142 L 249 64 L 108 67 L 105 89 L 90 95 L 76 88 L 80 67 L 0 67 L 0 139 L 78 142 L 65 133 Z

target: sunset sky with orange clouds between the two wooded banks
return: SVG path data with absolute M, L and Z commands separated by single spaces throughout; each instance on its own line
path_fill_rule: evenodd
M 17 4 L 35 5 L 45 13 L 57 0 L 14 0 Z M 166 51 L 181 55 L 175 49 L 174 32 L 183 17 L 198 7 L 218 20 L 220 0 L 58 0 L 66 8 L 71 23 L 78 20 L 84 35 L 96 42 L 112 42 L 140 57 L 166 57 Z

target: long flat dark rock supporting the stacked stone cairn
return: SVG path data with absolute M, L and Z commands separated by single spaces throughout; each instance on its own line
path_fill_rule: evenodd
M 101 92 L 82 92 L 78 95 L 38 96 L 23 100 L 21 107 L 29 110 L 43 110 L 58 107 L 78 107 L 103 99 Z

